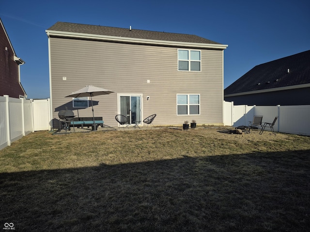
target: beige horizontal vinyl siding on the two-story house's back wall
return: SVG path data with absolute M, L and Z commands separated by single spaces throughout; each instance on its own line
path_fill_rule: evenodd
M 155 125 L 180 125 L 192 119 L 198 124 L 221 124 L 222 51 L 200 49 L 202 71 L 180 72 L 177 49 L 50 38 L 53 118 L 58 119 L 58 112 L 64 106 L 72 109 L 72 99 L 64 98 L 66 95 L 94 85 L 115 92 L 93 97 L 97 102 L 95 116 L 103 116 L 105 124 L 110 126 L 117 126 L 114 119 L 118 113 L 116 93 L 143 94 L 142 118 L 157 114 Z M 200 94 L 201 114 L 177 116 L 176 94 Z M 146 101 L 147 96 L 150 96 L 149 101 Z M 75 115 L 92 116 L 91 107 L 78 112 L 72 110 Z

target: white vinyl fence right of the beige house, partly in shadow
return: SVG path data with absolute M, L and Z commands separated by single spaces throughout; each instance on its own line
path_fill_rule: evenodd
M 263 122 L 270 123 L 278 116 L 275 131 L 310 136 L 310 105 L 248 106 L 224 102 L 223 115 L 224 125 L 233 127 L 247 126 L 254 115 L 262 115 Z

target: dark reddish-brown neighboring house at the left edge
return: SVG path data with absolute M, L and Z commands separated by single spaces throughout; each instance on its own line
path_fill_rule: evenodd
M 20 83 L 20 65 L 25 61 L 16 56 L 1 19 L 0 24 L 0 96 L 26 98 L 26 92 Z

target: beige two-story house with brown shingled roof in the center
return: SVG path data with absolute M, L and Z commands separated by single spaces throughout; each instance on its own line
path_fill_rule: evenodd
M 157 114 L 154 125 L 223 123 L 223 50 L 196 35 L 57 22 L 48 36 L 53 127 L 67 107 L 92 116 L 89 99 L 68 99 L 93 85 L 114 93 L 93 97 L 106 125 Z M 89 106 L 89 107 L 88 107 Z

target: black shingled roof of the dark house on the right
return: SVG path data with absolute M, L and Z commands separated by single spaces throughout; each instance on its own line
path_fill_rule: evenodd
M 224 95 L 309 83 L 310 50 L 255 66 L 225 88 Z

